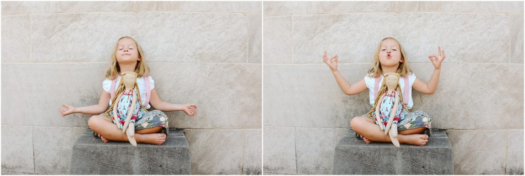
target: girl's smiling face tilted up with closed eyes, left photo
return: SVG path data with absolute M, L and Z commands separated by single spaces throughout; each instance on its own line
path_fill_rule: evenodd
M 117 62 L 119 64 L 137 63 L 139 51 L 131 38 L 122 38 L 117 43 Z

